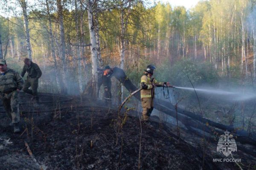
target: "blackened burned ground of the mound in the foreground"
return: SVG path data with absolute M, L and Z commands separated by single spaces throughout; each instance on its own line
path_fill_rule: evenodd
M 235 163 L 212 162 L 214 152 L 207 150 L 215 151 L 215 144 L 207 143 L 203 149 L 201 138 L 186 130 L 181 130 L 178 140 L 176 127 L 155 121 L 151 126 L 140 124 L 137 112 L 129 111 L 127 116 L 122 112 L 119 119 L 117 109 L 86 98 L 81 102 L 74 96 L 40 96 L 40 106 L 35 109 L 29 95 L 21 93 L 20 134 L 11 133 L 0 106 L 1 170 L 239 169 Z M 119 121 L 122 128 L 117 126 Z M 183 140 L 185 136 L 188 140 Z M 36 161 L 27 153 L 24 141 Z M 252 169 L 255 156 L 241 154 L 241 166 Z

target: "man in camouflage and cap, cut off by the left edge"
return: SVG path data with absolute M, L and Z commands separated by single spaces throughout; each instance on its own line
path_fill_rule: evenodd
M 20 132 L 19 92 L 23 86 L 23 78 L 18 72 L 7 68 L 6 61 L 0 59 L 0 98 L 7 116 L 14 125 L 14 133 Z

